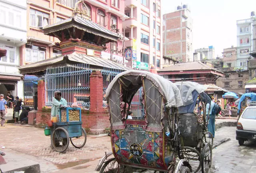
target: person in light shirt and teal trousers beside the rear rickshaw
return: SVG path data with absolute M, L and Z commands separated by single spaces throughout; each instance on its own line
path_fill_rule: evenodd
M 208 131 L 212 133 L 212 136 L 214 138 L 215 136 L 215 115 L 212 115 L 212 108 L 214 106 L 214 102 L 211 101 L 211 103 L 206 104 L 206 117 L 208 120 Z

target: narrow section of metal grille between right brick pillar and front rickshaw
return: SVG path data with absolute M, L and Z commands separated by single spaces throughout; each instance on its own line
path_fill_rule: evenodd
M 122 71 L 122 69 L 114 69 L 107 66 L 104 66 L 103 70 L 100 71 L 103 77 L 103 108 L 107 107 L 106 89 L 108 88 L 108 85 L 114 79 L 114 77 L 116 77 L 116 75 L 118 75 Z

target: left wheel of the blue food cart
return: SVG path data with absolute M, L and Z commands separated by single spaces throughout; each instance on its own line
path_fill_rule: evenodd
M 69 144 L 69 135 L 66 129 L 58 127 L 52 133 L 52 146 L 55 151 L 66 151 Z

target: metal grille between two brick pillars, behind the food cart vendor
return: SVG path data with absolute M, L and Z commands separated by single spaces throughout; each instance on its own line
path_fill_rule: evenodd
M 82 109 L 90 109 L 90 74 L 88 64 L 72 64 L 46 69 L 46 106 L 52 106 L 54 92 L 59 90 L 71 106 L 77 102 Z

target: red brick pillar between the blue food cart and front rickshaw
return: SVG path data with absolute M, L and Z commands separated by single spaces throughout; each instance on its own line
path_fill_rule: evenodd
M 90 75 L 90 110 L 102 111 L 103 77 L 100 71 L 93 71 Z

